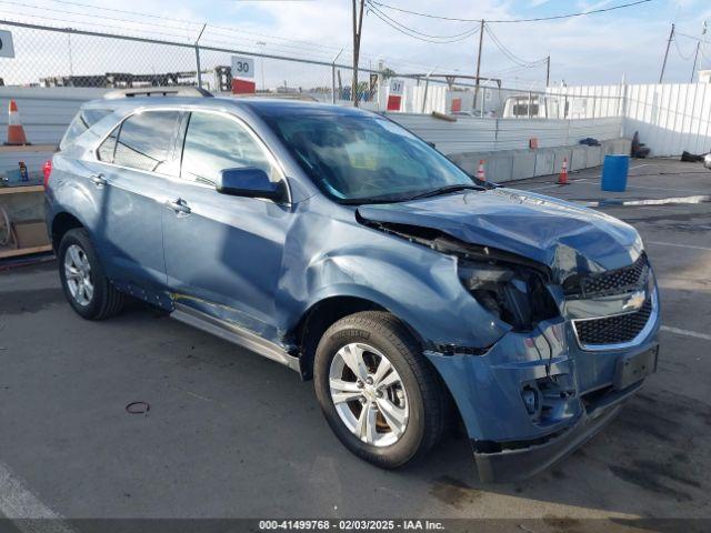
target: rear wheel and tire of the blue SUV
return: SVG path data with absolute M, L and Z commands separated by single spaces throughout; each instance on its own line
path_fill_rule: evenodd
M 80 316 L 103 320 L 121 311 L 126 298 L 106 276 L 87 230 L 74 229 L 64 234 L 58 262 L 64 295 Z

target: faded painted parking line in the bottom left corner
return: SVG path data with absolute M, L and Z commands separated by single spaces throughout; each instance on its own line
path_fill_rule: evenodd
M 0 462 L 0 513 L 23 533 L 74 533 L 63 516 L 44 505 Z

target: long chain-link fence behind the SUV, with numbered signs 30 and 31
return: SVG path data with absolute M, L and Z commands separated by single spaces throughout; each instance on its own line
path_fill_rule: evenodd
M 214 46 L 209 38 L 207 44 L 197 44 L 161 40 L 159 31 L 156 38 L 144 38 L 11 20 L 0 20 L 0 30 L 11 31 L 14 44 L 13 57 L 0 57 L 3 86 L 126 89 L 200 84 L 216 93 L 257 92 L 338 104 L 358 100 L 361 107 L 379 111 L 504 119 L 604 118 L 622 112 L 619 86 L 532 90 L 483 80 L 477 87 L 472 77 L 361 68 L 353 91 L 352 66 L 343 62 L 242 50 L 227 41 Z M 249 72 L 233 77 L 232 64 L 238 59 L 249 61 Z

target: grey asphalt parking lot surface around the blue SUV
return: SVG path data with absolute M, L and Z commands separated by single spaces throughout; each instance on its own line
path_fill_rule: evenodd
M 543 519 L 533 531 L 711 516 L 711 172 L 633 161 L 623 194 L 601 194 L 599 172 L 514 187 L 603 200 L 640 231 L 661 288 L 661 361 L 618 420 L 549 471 L 481 484 L 455 436 L 418 465 L 378 470 L 331 434 L 312 383 L 151 309 L 87 322 L 50 262 L 0 271 L 0 513 Z M 134 401 L 150 411 L 127 413 Z

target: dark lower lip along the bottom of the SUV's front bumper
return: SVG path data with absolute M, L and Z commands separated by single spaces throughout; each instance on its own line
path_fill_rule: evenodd
M 479 477 L 483 482 L 518 481 L 542 472 L 592 439 L 611 422 L 621 403 L 642 388 L 643 382 L 615 391 L 588 408 L 578 421 L 544 442 L 518 443 L 515 449 L 494 453 L 474 452 Z M 477 445 L 474 443 L 474 445 Z

